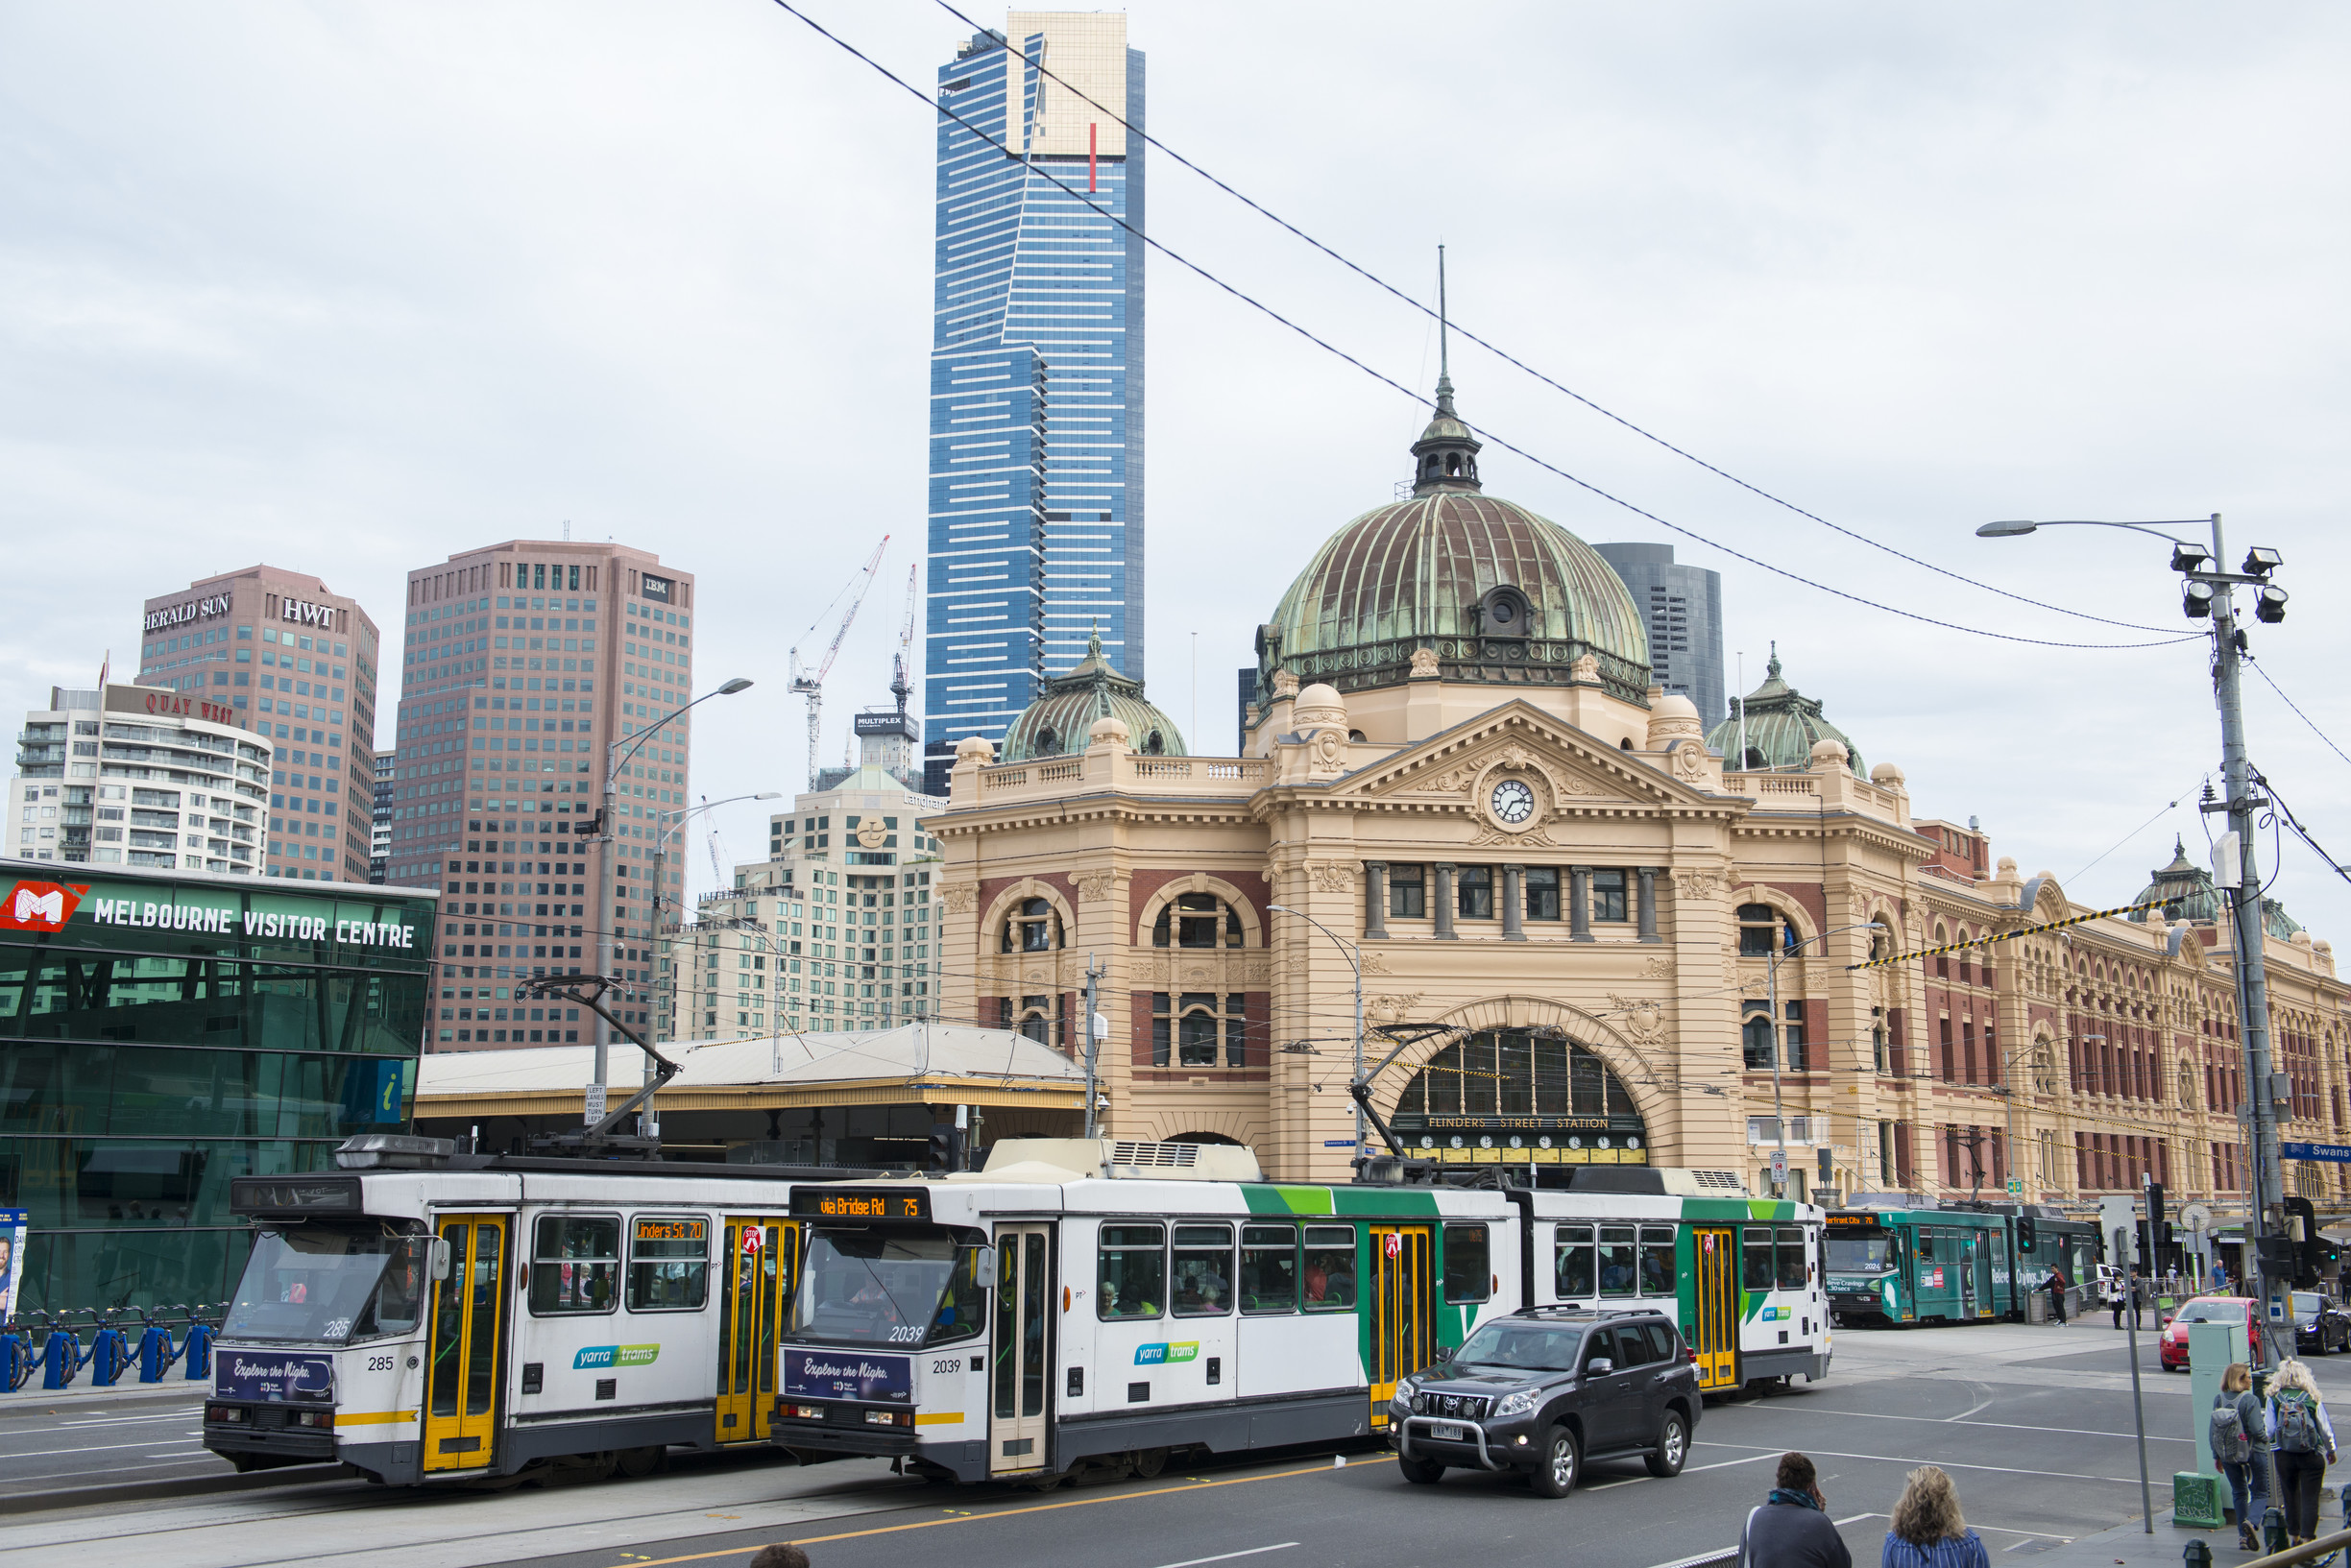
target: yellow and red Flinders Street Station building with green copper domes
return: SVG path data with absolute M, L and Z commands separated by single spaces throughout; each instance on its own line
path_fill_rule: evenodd
M 1002 755 L 962 743 L 926 820 L 940 1013 L 1081 1056 L 1091 957 L 1103 1131 L 1246 1143 L 1284 1180 L 1347 1175 L 1361 994 L 1371 1100 L 1434 1159 L 1761 1192 L 1777 1051 L 1806 1197 L 2154 1173 L 2226 1215 L 2250 1086 L 2210 875 L 2179 853 L 2137 917 L 1855 969 L 2085 907 L 1918 816 L 1777 658 L 1709 733 L 1650 684 L 1617 574 L 1486 494 L 1476 454 L 1441 381 L 1411 498 L 1331 534 L 1260 625 L 1246 755 L 1192 755 L 1098 644 Z M 2344 1143 L 2351 992 L 2266 917 L 2285 1138 Z M 2344 1166 L 2288 1171 L 2344 1197 Z

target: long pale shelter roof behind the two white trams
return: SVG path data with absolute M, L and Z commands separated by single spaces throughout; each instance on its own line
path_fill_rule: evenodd
M 799 1166 L 933 1164 L 931 1135 L 969 1107 L 969 1147 L 1077 1138 L 1086 1070 L 1013 1030 L 910 1023 L 896 1030 L 668 1041 L 679 1074 L 661 1091 L 661 1145 L 684 1159 Z M 644 1056 L 611 1044 L 611 1103 L 644 1081 Z M 592 1046 L 433 1051 L 418 1063 L 416 1131 L 522 1152 L 569 1133 L 588 1107 Z

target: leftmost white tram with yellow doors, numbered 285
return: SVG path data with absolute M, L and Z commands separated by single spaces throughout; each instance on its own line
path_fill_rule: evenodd
M 393 1135 L 336 1159 L 355 1168 L 230 1180 L 256 1237 L 205 1446 L 237 1469 L 644 1474 L 672 1443 L 769 1439 L 799 1258 L 788 1194 L 844 1173 L 451 1157 Z

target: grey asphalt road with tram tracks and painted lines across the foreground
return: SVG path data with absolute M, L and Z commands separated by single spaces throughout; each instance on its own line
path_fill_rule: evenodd
M 2193 1453 L 2196 1413 L 2189 1380 L 2154 1368 L 2149 1335 L 2139 1349 L 2161 1509 L 2170 1472 Z M 2351 1356 L 2313 1368 L 2351 1406 Z M 195 1448 L 188 1432 L 183 1401 L 61 1408 L 54 1418 L 0 1408 L 0 1474 L 40 1465 L 49 1486 L 125 1476 L 136 1465 L 209 1465 L 216 1474 L 216 1460 L 179 1458 Z M 1375 1450 L 1347 1453 L 1342 1467 L 1328 1450 L 1213 1460 L 1157 1481 L 1041 1495 L 924 1486 L 879 1462 L 792 1467 L 745 1453 L 684 1460 L 647 1481 L 560 1490 L 388 1490 L 336 1479 L 136 1509 L 14 1514 L 0 1519 L 0 1568 L 113 1568 L 129 1556 L 174 1568 L 724 1568 L 776 1540 L 804 1542 L 820 1568 L 903 1568 L 943 1554 L 959 1568 L 1253 1568 L 1255 1559 L 1267 1568 L 1451 1568 L 1465 1556 L 1483 1568 L 1554 1563 L 1568 1547 L 1578 1568 L 1662 1568 L 1726 1549 L 1784 1448 L 1815 1455 L 1829 1512 L 1864 1568 L 1878 1556 L 1904 1474 L 1921 1462 L 1956 1476 L 1996 1559 L 2036 1556 L 2139 1514 L 2123 1335 L 2097 1321 L 1838 1333 L 1827 1382 L 1712 1406 L 1679 1479 L 1655 1481 L 1639 1462 L 1594 1465 L 1559 1502 L 1476 1474 L 1408 1486 Z M 150 1474 L 172 1472 L 129 1479 Z

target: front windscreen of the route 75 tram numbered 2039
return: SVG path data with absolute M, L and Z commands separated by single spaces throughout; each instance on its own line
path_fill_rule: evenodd
M 792 1298 L 792 1338 L 820 1345 L 945 1345 L 980 1331 L 978 1248 L 945 1232 L 818 1229 Z

